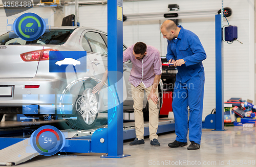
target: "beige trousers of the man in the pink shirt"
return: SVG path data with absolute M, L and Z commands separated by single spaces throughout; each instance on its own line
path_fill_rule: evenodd
M 153 85 L 152 85 L 153 86 Z M 152 86 L 145 88 L 144 84 L 141 82 L 139 86 L 135 87 L 132 84 L 132 96 L 134 101 L 134 117 L 135 117 L 135 130 L 136 137 L 144 139 L 144 119 L 143 119 L 143 100 L 144 100 L 144 90 L 146 91 L 146 97 L 150 94 Z M 158 88 L 156 89 L 156 94 L 158 95 Z M 157 105 L 150 99 L 148 100 L 148 108 L 150 115 L 150 140 L 154 138 L 157 139 L 157 128 L 158 128 L 158 109 Z

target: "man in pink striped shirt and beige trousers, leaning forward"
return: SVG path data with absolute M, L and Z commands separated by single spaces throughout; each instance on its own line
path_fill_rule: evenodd
M 144 144 L 143 100 L 144 91 L 148 100 L 150 115 L 150 144 L 160 146 L 158 129 L 158 84 L 162 75 L 162 63 L 159 51 L 143 42 L 137 42 L 123 52 L 123 62 L 131 60 L 133 68 L 129 81 L 132 84 L 136 138 L 131 146 Z

